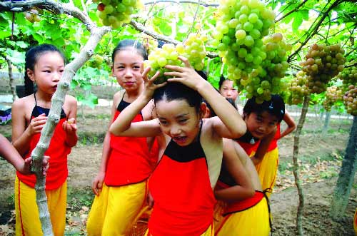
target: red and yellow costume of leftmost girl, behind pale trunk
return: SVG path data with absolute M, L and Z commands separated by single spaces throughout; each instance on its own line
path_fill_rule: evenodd
M 31 113 L 31 119 L 45 113 L 49 115 L 49 109 L 35 106 Z M 66 226 L 66 178 L 68 176 L 67 156 L 71 153 L 71 148 L 66 144 L 66 133 L 62 128 L 62 123 L 66 120 L 66 114 L 61 111 L 61 118 L 56 125 L 54 135 L 51 138 L 49 149 L 44 155 L 48 155 L 49 170 L 46 174 L 46 195 L 51 215 L 51 223 L 54 235 L 64 235 Z M 31 137 L 29 151 L 25 158 L 29 158 L 32 150 L 39 143 L 40 133 Z M 41 222 L 39 221 L 39 211 L 36 204 L 36 193 L 34 186 L 35 175 L 22 175 L 16 172 L 15 180 L 15 211 L 16 211 L 16 236 L 38 236 L 42 235 Z

